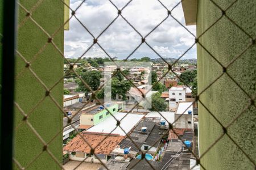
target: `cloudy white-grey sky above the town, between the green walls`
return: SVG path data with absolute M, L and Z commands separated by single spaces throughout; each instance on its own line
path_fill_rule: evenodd
M 71 0 L 71 8 L 75 10 L 82 1 Z M 112 0 L 121 9 L 126 0 Z M 179 0 L 161 0 L 171 10 Z M 85 1 L 76 11 L 77 18 L 97 37 L 112 20 L 117 17 L 117 9 L 108 0 Z M 133 0 L 122 11 L 122 15 L 144 37 L 164 18 L 167 10 L 157 0 Z M 181 4 L 172 11 L 172 15 L 185 25 Z M 194 35 L 196 27 L 186 26 Z M 146 41 L 162 57 L 177 58 L 181 56 L 195 41 L 193 36 L 179 25 L 171 16 L 158 28 L 147 36 Z M 65 31 L 65 56 L 80 57 L 93 43 L 93 37 L 85 30 L 76 18 L 70 20 L 70 29 Z M 117 20 L 100 36 L 98 43 L 111 57 L 126 58 L 141 43 L 141 36 L 119 16 Z M 106 54 L 94 45 L 84 57 L 107 57 Z M 142 44 L 130 58 L 150 57 L 158 58 L 153 50 Z M 196 58 L 196 46 L 182 59 Z

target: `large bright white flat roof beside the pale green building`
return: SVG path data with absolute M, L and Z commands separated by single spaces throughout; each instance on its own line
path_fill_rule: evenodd
M 121 120 L 120 126 L 122 127 L 122 130 L 119 126 L 117 125 L 117 120 Z M 122 136 L 125 136 L 126 133 L 129 133 L 131 129 L 134 128 L 135 125 L 138 124 L 139 121 L 141 121 L 142 117 L 144 117 L 143 114 L 133 114 L 133 113 L 122 113 L 118 112 L 113 114 L 113 116 L 109 116 L 105 120 L 101 121 L 99 124 L 93 126 L 92 128 L 86 130 L 91 133 L 110 133 L 112 134 L 119 134 Z M 112 131 L 113 130 L 113 131 Z

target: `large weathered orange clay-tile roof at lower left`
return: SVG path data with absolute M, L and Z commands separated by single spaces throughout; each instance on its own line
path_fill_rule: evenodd
M 109 155 L 114 148 L 123 140 L 125 137 L 119 136 L 119 135 L 109 135 L 106 137 L 106 135 L 99 135 L 99 134 L 86 134 L 81 133 L 82 137 L 89 143 L 92 148 L 94 148 L 95 154 L 105 154 Z M 86 144 L 80 137 L 80 135 L 77 135 L 75 138 L 73 138 L 70 142 L 67 143 L 66 146 L 64 146 L 63 151 L 68 152 L 85 152 L 86 154 L 90 153 L 90 147 Z

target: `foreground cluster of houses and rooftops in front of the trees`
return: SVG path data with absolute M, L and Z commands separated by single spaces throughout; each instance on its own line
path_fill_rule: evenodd
M 193 150 L 195 131 L 193 103 L 179 101 L 179 97 L 170 111 L 129 112 L 125 101 L 102 107 L 79 102 L 79 95 L 65 95 L 65 111 L 74 117 L 72 127 L 67 126 L 67 117 L 64 118 L 65 129 L 69 129 L 64 129 L 63 139 L 67 140 L 67 131 L 81 133 L 64 145 L 63 152 L 69 155 L 69 160 L 105 163 L 109 169 L 150 168 L 147 162 L 138 162 L 140 155 L 147 152 L 145 158 L 157 169 L 189 169 L 193 162 L 189 149 Z

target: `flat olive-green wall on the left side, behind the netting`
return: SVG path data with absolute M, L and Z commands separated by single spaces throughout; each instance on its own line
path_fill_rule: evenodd
M 27 10 L 30 10 L 39 1 L 20 0 Z M 52 35 L 64 23 L 64 4 L 61 1 L 46 0 L 38 3 L 38 7 L 32 13 L 32 18 L 38 22 L 48 33 Z M 23 19 L 26 18 L 26 12 L 19 8 L 19 29 L 18 29 L 18 50 L 27 59 L 32 61 L 35 54 L 46 44 L 48 37 L 40 30 L 30 19 L 26 20 L 20 26 Z M 60 29 L 54 37 L 54 42 L 63 51 L 64 31 Z M 15 79 L 15 101 L 20 105 L 25 113 L 31 111 L 33 107 L 46 94 L 42 84 L 25 68 L 26 63 L 16 57 L 16 79 Z M 53 86 L 63 76 L 63 57 L 53 48 L 52 44 L 47 44 L 46 48 L 39 53 L 36 59 L 31 63 L 31 69 L 38 75 L 48 88 Z M 23 72 L 22 72 L 23 71 Z M 21 73 L 22 72 L 22 73 Z M 63 106 L 63 81 L 61 81 L 53 90 L 52 96 L 60 106 Z M 15 138 L 14 138 L 14 157 L 18 162 L 26 167 L 43 150 L 43 144 L 39 141 L 32 130 L 26 124 L 22 123 L 22 114 L 15 108 Z M 63 127 L 63 113 L 56 107 L 49 97 L 43 100 L 36 107 L 34 112 L 28 116 L 28 121 L 38 131 L 39 135 L 47 143 L 55 137 L 57 132 Z M 16 128 L 18 127 L 19 128 Z M 62 132 L 57 135 L 48 145 L 48 149 L 56 156 L 62 164 Z M 49 156 L 43 152 L 28 169 L 59 169 L 59 166 Z

